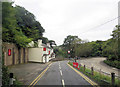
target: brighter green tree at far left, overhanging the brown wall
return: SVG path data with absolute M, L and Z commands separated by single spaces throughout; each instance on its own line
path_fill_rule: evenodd
M 13 3 L 3 2 L 2 4 L 2 40 L 15 43 L 19 47 L 26 47 L 32 38 L 26 37 L 18 26 Z

